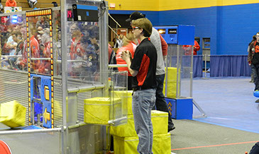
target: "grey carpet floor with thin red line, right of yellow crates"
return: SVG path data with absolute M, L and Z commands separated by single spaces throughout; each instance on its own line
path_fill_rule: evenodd
M 171 131 L 172 153 L 244 154 L 259 141 L 259 134 L 193 120 L 174 121 Z

